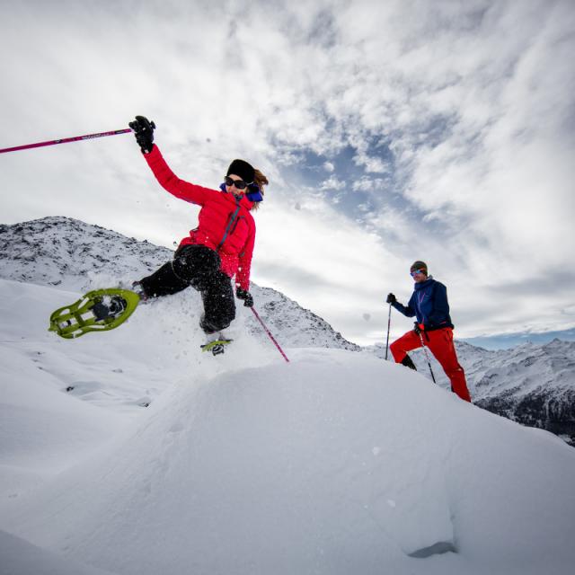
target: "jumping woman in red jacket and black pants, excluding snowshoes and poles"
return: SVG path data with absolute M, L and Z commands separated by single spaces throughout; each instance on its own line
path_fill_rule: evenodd
M 153 144 L 154 122 L 136 116 L 129 127 L 164 189 L 201 206 L 198 227 L 181 240 L 173 260 L 140 279 L 134 289 L 144 298 L 168 296 L 190 286 L 197 289 L 204 304 L 199 324 L 206 334 L 217 334 L 235 317 L 234 276 L 235 295 L 243 299 L 243 305 L 253 305 L 249 289 L 255 222 L 251 211 L 263 199 L 263 186 L 268 180 L 243 160 L 230 164 L 220 190 L 180 180 Z

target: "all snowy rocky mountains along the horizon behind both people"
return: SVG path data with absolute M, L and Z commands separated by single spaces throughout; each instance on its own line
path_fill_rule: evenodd
M 44 217 L 0 225 L 0 277 L 70 291 L 112 287 L 140 279 L 172 258 L 173 252 L 67 217 Z M 385 346 L 360 347 L 313 312 L 279 291 L 252 284 L 256 307 L 282 346 L 349 349 L 385 357 Z M 255 319 L 247 327 L 266 336 Z M 510 420 L 547 429 L 575 446 L 575 342 L 526 343 L 490 351 L 456 342 L 473 403 Z M 422 351 L 413 353 L 429 376 Z M 438 385 L 447 377 L 431 359 Z

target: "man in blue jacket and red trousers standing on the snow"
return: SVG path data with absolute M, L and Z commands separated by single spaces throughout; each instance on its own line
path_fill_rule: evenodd
M 453 323 L 449 316 L 447 288 L 428 275 L 428 266 L 424 261 L 415 261 L 410 270 L 415 281 L 413 295 L 408 305 L 400 304 L 394 294 L 387 296 L 387 303 L 407 317 L 417 317 L 415 329 L 405 333 L 391 344 L 390 349 L 397 363 L 415 369 L 408 355 L 411 349 L 421 347 L 420 335 L 435 356 L 451 381 L 451 390 L 466 402 L 471 396 L 465 382 L 464 368 L 457 361 L 453 343 Z

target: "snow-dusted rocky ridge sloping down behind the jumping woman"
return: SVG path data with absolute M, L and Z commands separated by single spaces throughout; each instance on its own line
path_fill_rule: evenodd
M 173 251 L 68 217 L 0 225 L 0 277 L 84 293 L 130 284 L 171 260 Z M 288 347 L 361 349 L 319 315 L 252 283 L 258 313 Z M 261 335 L 254 318 L 248 329 Z M 263 335 L 265 338 L 265 334 Z

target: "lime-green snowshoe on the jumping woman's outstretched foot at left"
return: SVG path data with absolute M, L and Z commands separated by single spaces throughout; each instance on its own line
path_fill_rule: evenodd
M 66 340 L 87 332 L 107 332 L 124 323 L 139 301 L 140 296 L 128 289 L 95 289 L 51 314 L 48 331 Z

